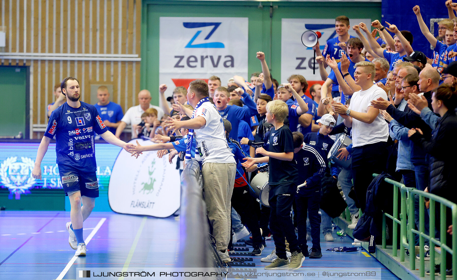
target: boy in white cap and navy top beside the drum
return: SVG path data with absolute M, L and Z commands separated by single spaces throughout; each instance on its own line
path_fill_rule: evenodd
M 314 149 L 316 149 L 320 156 L 324 159 L 325 166 L 329 166 L 329 160 L 327 159 L 327 155 L 332 148 L 335 141 L 329 137 L 329 133 L 333 130 L 333 127 L 336 124 L 335 118 L 330 114 L 324 114 L 322 118 L 318 120 L 319 123 L 319 131 L 310 132 L 304 135 L 304 142 Z M 332 176 L 335 181 L 338 178 L 338 168 L 334 164 L 330 165 L 330 169 L 326 170 L 330 176 Z M 321 209 L 322 213 L 322 233 L 324 234 L 325 241 L 334 241 L 332 232 L 332 220 L 327 213 L 325 213 Z

